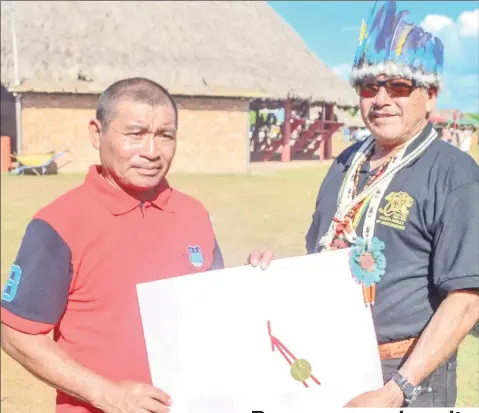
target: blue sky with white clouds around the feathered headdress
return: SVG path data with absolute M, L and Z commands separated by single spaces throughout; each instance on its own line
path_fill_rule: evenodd
M 373 1 L 269 1 L 274 10 L 331 69 L 347 79 L 361 19 Z M 444 90 L 438 106 L 479 113 L 479 2 L 398 1 L 444 43 Z

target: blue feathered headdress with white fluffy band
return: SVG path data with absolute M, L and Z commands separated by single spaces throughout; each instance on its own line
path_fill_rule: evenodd
M 361 25 L 350 82 L 385 74 L 416 80 L 424 86 L 441 86 L 442 41 L 414 23 L 409 11 L 396 14 L 396 2 L 375 3 L 369 21 Z

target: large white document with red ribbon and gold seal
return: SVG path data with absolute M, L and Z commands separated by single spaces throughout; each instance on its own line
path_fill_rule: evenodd
M 348 252 L 138 285 L 153 385 L 172 413 L 317 413 L 380 388 Z

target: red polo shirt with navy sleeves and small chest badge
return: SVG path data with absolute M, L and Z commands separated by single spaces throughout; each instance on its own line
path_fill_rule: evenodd
M 164 181 L 141 204 L 91 167 L 85 182 L 40 210 L 2 295 L 2 323 L 54 330 L 76 361 L 104 377 L 151 384 L 136 284 L 222 268 L 205 208 Z M 94 412 L 58 392 L 57 413 Z

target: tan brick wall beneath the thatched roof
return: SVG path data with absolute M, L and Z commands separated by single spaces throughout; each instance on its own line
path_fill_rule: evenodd
M 68 148 L 58 164 L 64 172 L 85 172 L 98 162 L 88 134 L 97 96 L 24 94 L 23 152 Z M 246 172 L 249 162 L 248 107 L 237 99 L 175 99 L 179 108 L 178 149 L 173 172 Z

